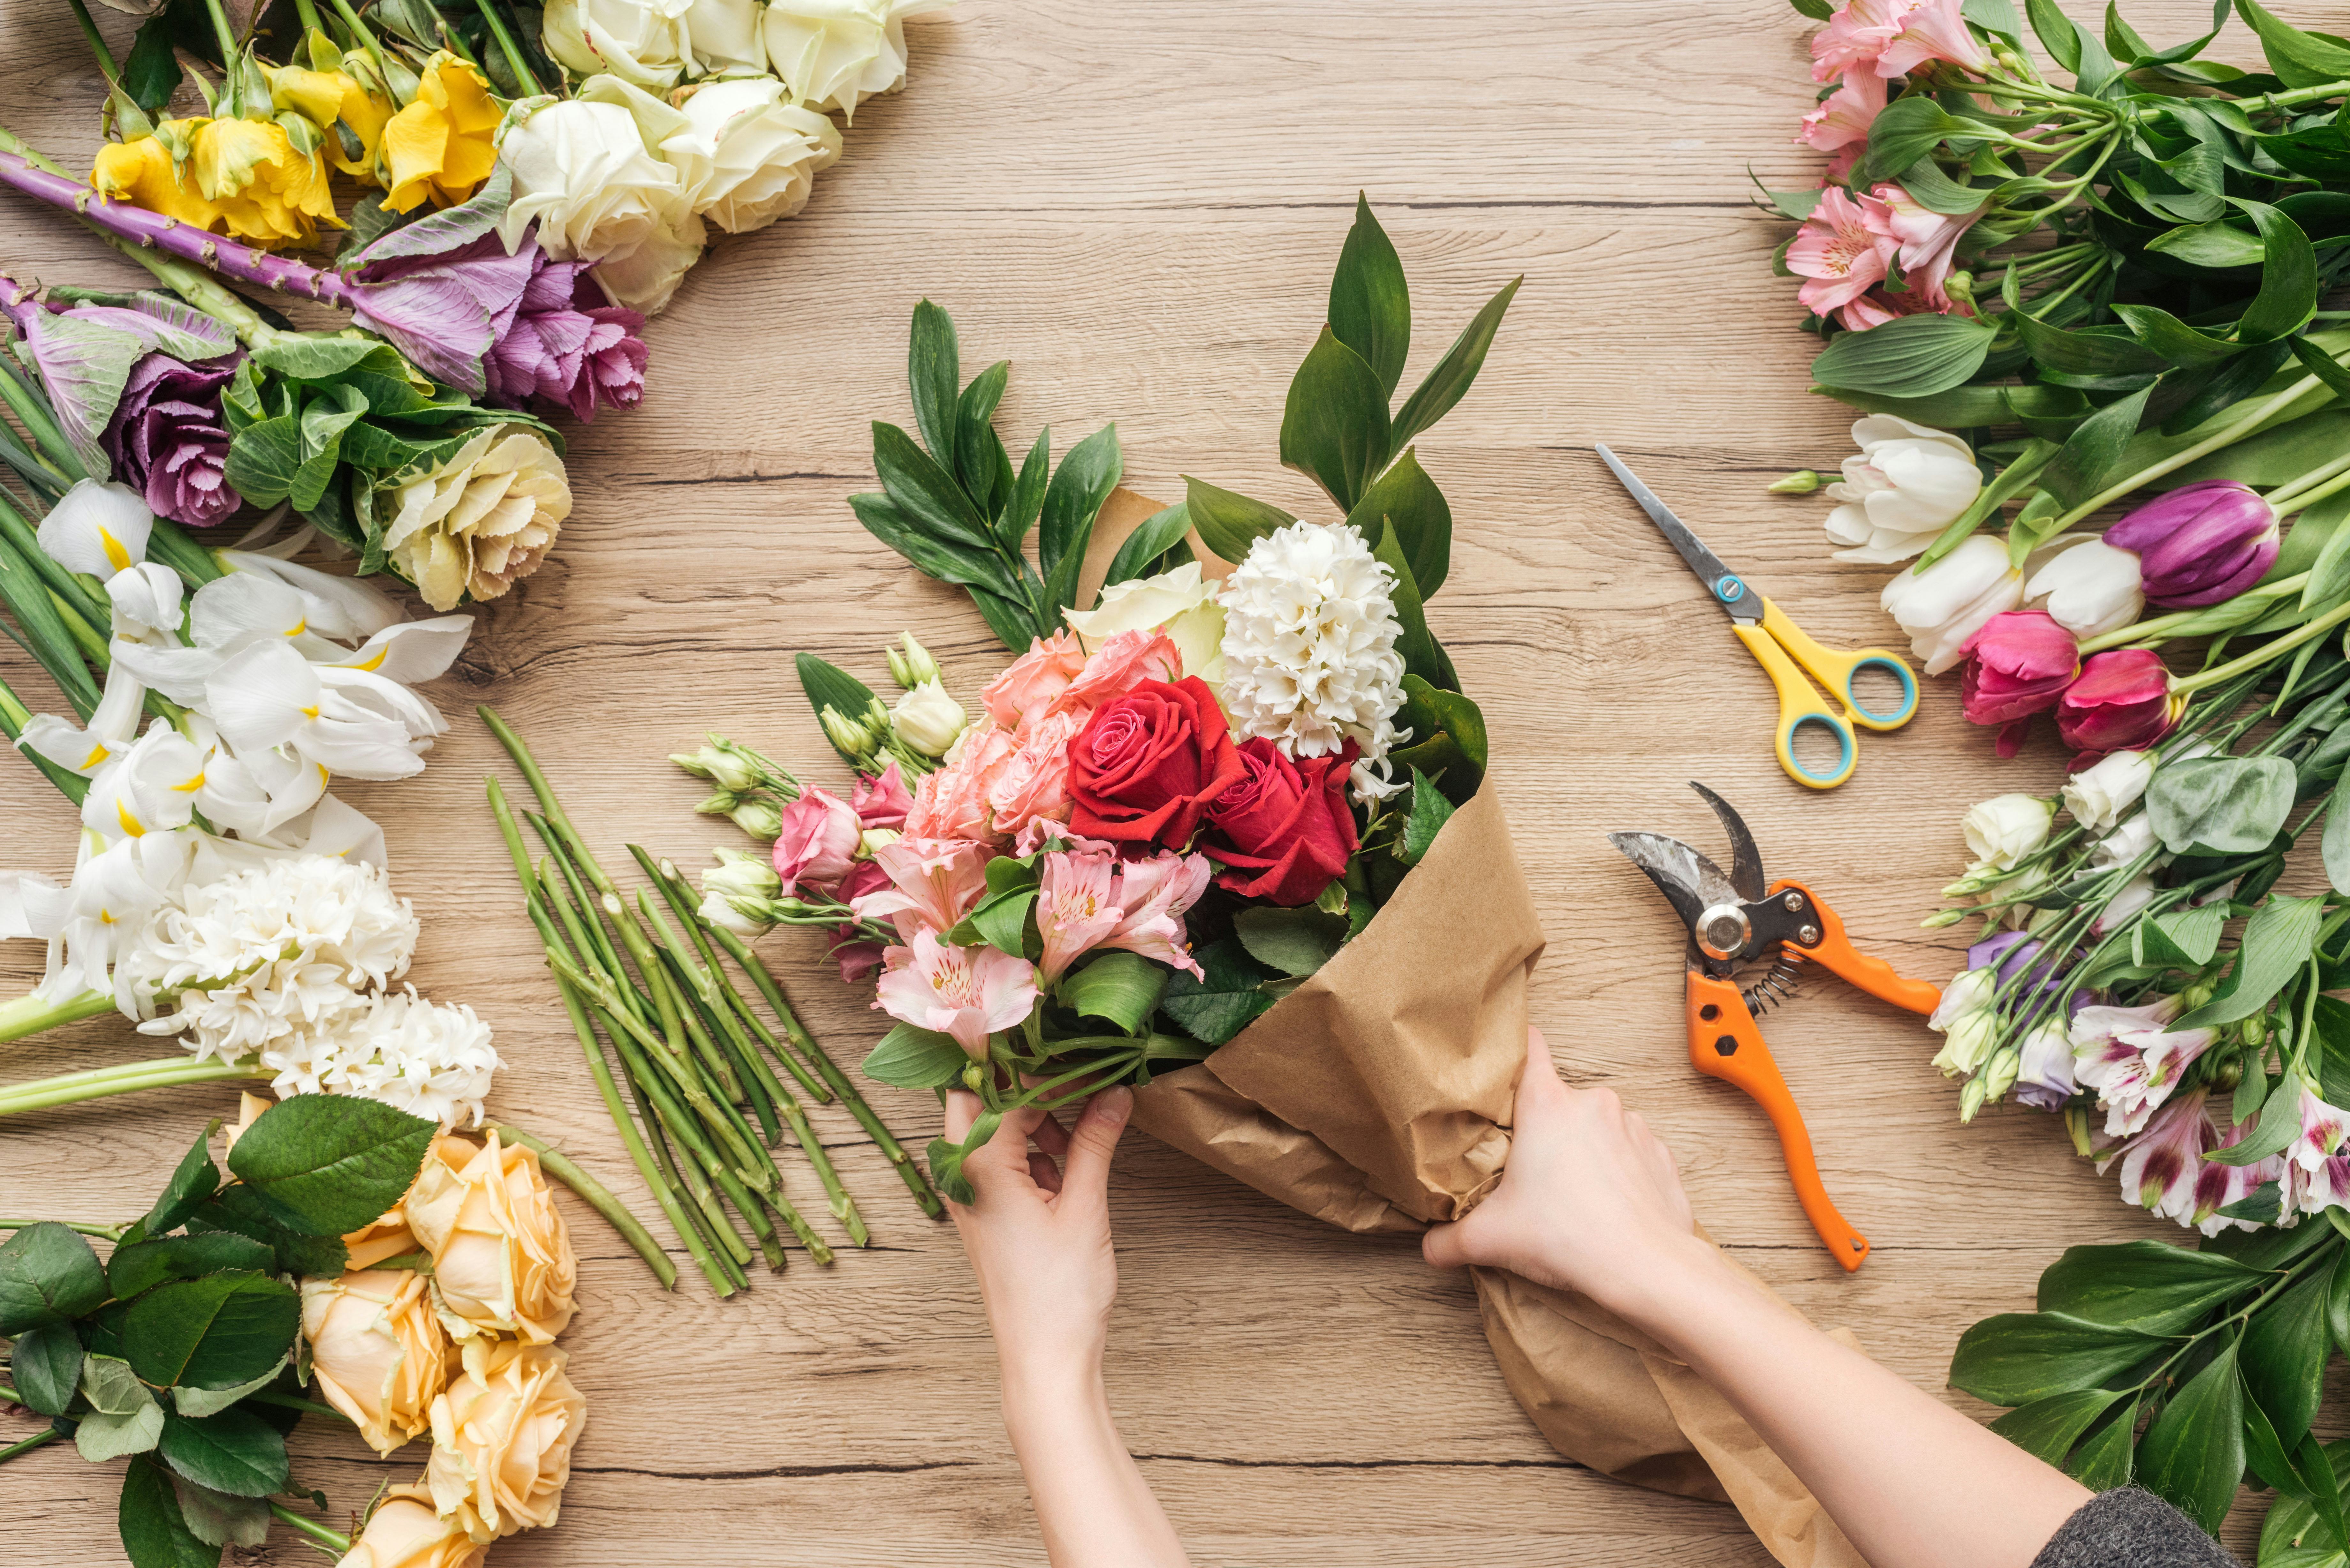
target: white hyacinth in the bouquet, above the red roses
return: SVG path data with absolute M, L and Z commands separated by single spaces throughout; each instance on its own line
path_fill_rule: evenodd
M 1349 738 L 1356 799 L 1394 795 L 1386 752 L 1408 733 L 1394 574 L 1347 524 L 1292 522 L 1248 548 L 1217 590 L 1224 607 L 1224 710 L 1238 738 L 1267 736 L 1290 757 Z

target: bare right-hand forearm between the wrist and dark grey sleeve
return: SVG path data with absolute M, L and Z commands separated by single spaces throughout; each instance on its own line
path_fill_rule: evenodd
M 1619 1312 L 1720 1389 L 1875 1568 L 2028 1568 L 2089 1500 L 1694 1237 Z

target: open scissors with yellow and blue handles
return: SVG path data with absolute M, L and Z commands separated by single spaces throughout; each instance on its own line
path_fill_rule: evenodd
M 1753 592 L 1737 571 L 1725 567 L 1697 534 L 1690 534 L 1687 524 L 1673 515 L 1673 508 L 1657 501 L 1657 491 L 1640 484 L 1640 477 L 1624 468 L 1617 454 L 1607 451 L 1607 447 L 1596 447 L 1596 451 L 1614 470 L 1614 477 L 1624 482 L 1624 489 L 1631 491 L 1631 498 L 1640 503 L 1647 520 L 1657 524 L 1657 531 L 1680 550 L 1680 559 L 1690 564 L 1690 571 L 1706 585 L 1713 602 L 1730 614 L 1730 630 L 1739 635 L 1739 642 L 1746 644 L 1746 651 L 1755 656 L 1755 663 L 1762 665 L 1762 672 L 1779 689 L 1779 766 L 1786 769 L 1788 778 L 1814 790 L 1833 790 L 1852 778 L 1852 764 L 1859 762 L 1859 750 L 1852 743 L 1854 724 L 1901 729 L 1918 717 L 1918 677 L 1911 675 L 1899 654 L 1889 654 L 1887 649 L 1838 654 L 1835 649 L 1819 646 L 1777 604 Z M 1795 665 L 1810 670 L 1812 679 L 1826 686 L 1842 712 L 1828 708 Z M 1901 682 L 1901 705 L 1892 712 L 1871 712 L 1854 696 L 1852 679 L 1868 668 L 1887 670 Z M 1795 757 L 1795 731 L 1805 724 L 1817 724 L 1835 736 L 1835 769 L 1814 773 Z

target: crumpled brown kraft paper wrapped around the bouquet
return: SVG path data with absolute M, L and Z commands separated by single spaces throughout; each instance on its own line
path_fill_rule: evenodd
M 1206 1063 L 1142 1088 L 1135 1124 L 1351 1232 L 1459 1218 L 1509 1157 L 1542 947 L 1485 788 L 1363 936 Z M 1476 1269 L 1476 1293 L 1502 1380 L 1558 1453 L 1732 1502 L 1788 1568 L 1864 1568 L 1737 1410 L 1636 1328 L 1499 1269 Z

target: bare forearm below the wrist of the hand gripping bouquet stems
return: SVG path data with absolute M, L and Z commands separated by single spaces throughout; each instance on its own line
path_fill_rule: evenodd
M 1109 1415 L 1100 1368 L 1003 1368 L 1003 1425 L 1053 1568 L 1187 1568 Z

